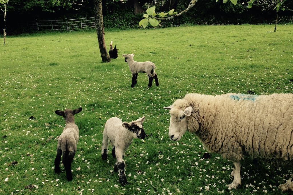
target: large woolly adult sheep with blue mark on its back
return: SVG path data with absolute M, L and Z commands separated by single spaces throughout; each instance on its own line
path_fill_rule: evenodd
M 187 94 L 164 108 L 170 109 L 171 140 L 179 141 L 186 131 L 195 133 L 207 150 L 233 161 L 230 188 L 241 184 L 244 156 L 293 160 L 293 94 Z M 293 190 L 293 182 L 279 188 Z

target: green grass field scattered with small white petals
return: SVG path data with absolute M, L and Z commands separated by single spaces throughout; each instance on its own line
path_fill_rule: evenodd
M 0 194 L 287 194 L 277 186 L 288 167 L 244 159 L 242 186 L 228 190 L 233 163 L 206 149 L 195 135 L 168 138 L 164 106 L 187 93 L 293 92 L 293 25 L 192 26 L 105 30 L 119 57 L 101 63 L 96 32 L 8 36 L 0 46 Z M 3 42 L 3 38 L 0 39 Z M 158 87 L 147 88 L 122 54 L 153 61 Z M 55 110 L 82 107 L 75 116 L 79 143 L 73 181 L 54 173 L 57 136 L 64 119 Z M 101 160 L 103 127 L 110 117 L 146 116 L 144 140 L 125 153 L 128 184 L 119 184 L 115 159 Z M 33 117 L 32 117 L 33 116 Z M 110 154 L 110 147 L 109 147 Z M 79 169 L 80 167 L 80 169 Z M 8 178 L 8 180 L 7 180 Z

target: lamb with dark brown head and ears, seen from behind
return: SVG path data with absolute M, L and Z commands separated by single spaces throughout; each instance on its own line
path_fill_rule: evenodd
M 57 110 L 57 115 L 63 116 L 66 122 L 62 134 L 58 138 L 57 155 L 55 158 L 55 173 L 60 172 L 60 160 L 62 155 L 62 163 L 64 164 L 66 177 L 68 181 L 72 180 L 71 163 L 76 153 L 76 144 L 79 140 L 79 129 L 74 122 L 74 115 L 79 113 L 82 108 L 75 110 L 65 109 L 64 111 Z

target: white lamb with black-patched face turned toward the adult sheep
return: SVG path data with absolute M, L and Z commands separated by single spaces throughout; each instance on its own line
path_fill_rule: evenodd
M 125 161 L 123 160 L 125 151 L 132 143 L 132 139 L 144 139 L 146 136 L 142 123 L 145 117 L 139 118 L 132 122 L 122 122 L 117 117 L 112 117 L 107 120 L 103 133 L 102 141 L 102 160 L 108 157 L 108 140 L 113 144 L 112 156 L 117 158 L 114 165 L 114 172 L 119 170 L 119 182 L 122 185 L 127 183 L 125 175 Z

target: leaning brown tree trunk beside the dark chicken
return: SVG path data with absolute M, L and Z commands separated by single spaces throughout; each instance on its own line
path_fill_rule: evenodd
M 100 53 L 103 62 L 110 62 L 110 56 L 106 49 L 105 37 L 104 37 L 104 22 L 103 22 L 103 12 L 102 12 L 102 0 L 94 0 L 94 12 L 95 12 L 95 23 L 98 36 L 98 43 L 100 48 Z

